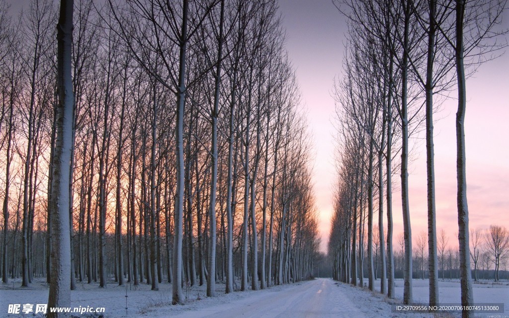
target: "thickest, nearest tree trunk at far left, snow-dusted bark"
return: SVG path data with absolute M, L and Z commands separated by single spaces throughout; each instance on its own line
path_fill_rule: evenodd
M 57 26 L 57 80 L 59 104 L 56 117 L 55 157 L 53 170 L 52 200 L 49 213 L 53 215 L 52 227 L 52 273 L 49 284 L 48 307 L 71 305 L 69 293 L 70 276 L 66 269 L 71 267 L 69 236 L 69 177 L 73 123 L 72 91 L 72 15 L 73 0 L 61 0 L 60 17 Z M 67 317 L 67 313 L 52 313 L 48 317 Z

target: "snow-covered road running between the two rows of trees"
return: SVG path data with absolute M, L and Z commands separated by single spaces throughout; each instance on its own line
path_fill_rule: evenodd
M 184 312 L 175 317 L 399 317 L 390 305 L 371 293 L 328 278 L 291 285 L 284 290 L 252 293 L 249 297 Z M 401 315 L 403 316 L 403 315 Z M 405 316 L 409 316 L 408 314 Z M 418 315 L 415 317 L 429 316 Z

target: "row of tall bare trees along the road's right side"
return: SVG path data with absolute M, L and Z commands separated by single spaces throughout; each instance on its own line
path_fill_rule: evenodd
M 450 92 L 457 93 L 457 181 L 462 304 L 472 302 L 468 207 L 465 177 L 465 79 L 504 47 L 497 35 L 505 1 L 334 1 L 348 18 L 344 76 L 335 82 L 338 118 L 338 181 L 329 255 L 339 279 L 357 284 L 367 226 L 369 287 L 374 285 L 373 237 L 379 237 L 381 293 L 394 297 L 393 171 L 401 176 L 404 235 L 404 303 L 412 302 L 412 233 L 409 205 L 410 136 L 426 130 L 428 271 L 430 305 L 438 299 L 433 113 Z M 425 123 L 424 125 L 421 125 Z M 401 154 L 401 160 L 393 160 Z M 387 242 L 384 236 L 387 214 Z M 378 210 L 378 233 L 373 216 Z M 387 247 L 387 258 L 385 257 Z M 356 256 L 358 252 L 358 256 Z M 387 263 L 387 265 L 386 265 Z M 385 272 L 387 268 L 387 273 Z M 386 282 L 388 278 L 388 283 Z M 360 275 L 362 283 L 363 277 Z M 463 311 L 463 316 L 471 312 Z

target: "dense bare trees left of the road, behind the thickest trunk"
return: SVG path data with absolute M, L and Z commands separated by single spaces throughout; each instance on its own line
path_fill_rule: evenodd
M 51 0 L 19 16 L 0 1 L 0 271 L 23 286 L 54 265 L 56 19 Z M 73 21 L 70 288 L 165 279 L 175 304 L 184 283 L 312 277 L 309 136 L 277 2 L 80 0 Z

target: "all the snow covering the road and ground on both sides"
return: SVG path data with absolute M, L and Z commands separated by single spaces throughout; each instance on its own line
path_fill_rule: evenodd
M 379 287 L 377 280 L 375 286 Z M 9 304 L 46 304 L 48 286 L 42 279 L 37 279 L 30 287 L 21 288 L 20 280 L 0 285 L 0 318 L 15 317 L 8 314 Z M 459 281 L 440 281 L 440 302 L 458 303 L 460 299 Z M 503 302 L 505 312 L 509 312 L 509 285 L 474 283 L 475 302 Z M 217 297 L 206 297 L 206 286 L 183 288 L 187 298 L 185 305 L 171 305 L 171 284 L 159 284 L 158 291 L 151 291 L 150 285 L 127 284 L 128 309 L 126 314 L 126 286 L 109 282 L 106 288 L 98 283 L 77 283 L 71 291 L 73 307 L 105 307 L 104 317 L 433 317 L 423 313 L 401 313 L 391 310 L 391 304 L 401 304 L 403 298 L 403 281 L 396 281 L 396 300 L 367 288 L 353 287 L 338 283 L 328 278 L 319 278 L 295 284 L 272 286 L 262 291 L 235 292 L 224 294 L 224 284 L 216 284 Z M 413 281 L 415 302 L 426 303 L 428 299 L 428 281 Z M 42 315 L 38 314 L 42 317 Z M 478 314 L 477 316 L 487 316 Z M 23 316 L 22 314 L 17 316 Z M 25 315 L 25 316 L 32 316 Z M 37 315 L 36 315 L 37 316 Z M 77 315 L 80 317 L 97 317 L 98 314 Z

